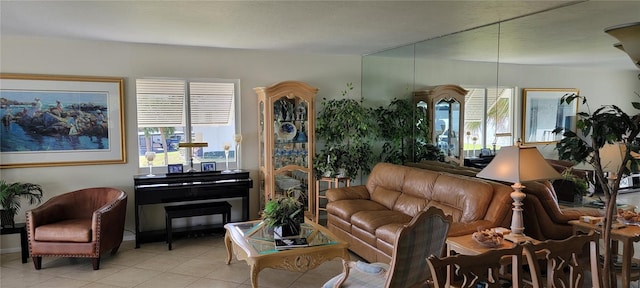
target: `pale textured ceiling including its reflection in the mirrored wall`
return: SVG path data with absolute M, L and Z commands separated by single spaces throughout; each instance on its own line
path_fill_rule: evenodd
M 544 11 L 543 13 L 536 13 Z M 474 61 L 635 69 L 604 28 L 640 1 L 0 1 L 0 35 L 363 55 L 440 38 Z

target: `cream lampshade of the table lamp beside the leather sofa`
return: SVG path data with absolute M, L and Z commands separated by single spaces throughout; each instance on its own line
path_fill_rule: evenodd
M 536 147 L 518 145 L 502 147 L 476 176 L 510 183 L 560 178 Z

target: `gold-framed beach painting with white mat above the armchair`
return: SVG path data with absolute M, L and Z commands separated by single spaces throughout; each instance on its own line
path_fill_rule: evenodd
M 123 82 L 0 74 L 0 168 L 126 163 Z

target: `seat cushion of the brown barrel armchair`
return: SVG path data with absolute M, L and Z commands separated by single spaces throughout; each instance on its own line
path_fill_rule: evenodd
M 69 219 L 52 224 L 38 226 L 35 229 L 36 241 L 44 242 L 91 242 L 91 218 Z

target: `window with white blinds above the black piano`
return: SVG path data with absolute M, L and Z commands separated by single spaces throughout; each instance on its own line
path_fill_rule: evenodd
M 229 162 L 235 165 L 234 135 L 239 80 L 137 79 L 138 162 L 147 167 L 187 164 L 200 170 L 201 162 L 217 162 L 226 169 L 223 147 L 230 145 Z M 183 142 L 205 142 L 207 147 L 180 148 Z

